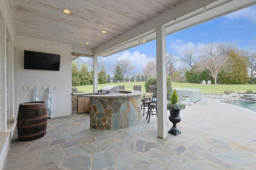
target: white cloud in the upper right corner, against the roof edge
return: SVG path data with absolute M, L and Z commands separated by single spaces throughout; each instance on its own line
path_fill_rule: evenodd
M 251 6 L 225 16 L 230 20 L 249 20 L 256 23 L 256 6 Z

